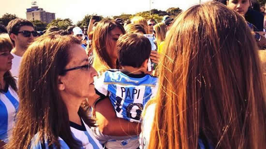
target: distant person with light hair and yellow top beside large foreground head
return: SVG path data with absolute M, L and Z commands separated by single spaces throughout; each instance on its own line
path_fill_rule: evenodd
M 163 44 L 164 44 L 163 41 L 165 39 L 166 32 L 167 32 L 167 29 L 166 29 L 166 26 L 163 22 L 158 23 L 153 27 L 153 34 L 154 34 L 155 39 L 156 39 L 159 54 L 163 50 Z

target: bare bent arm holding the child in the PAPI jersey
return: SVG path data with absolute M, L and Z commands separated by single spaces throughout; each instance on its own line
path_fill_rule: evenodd
M 118 118 L 110 102 L 109 97 L 105 97 L 95 106 L 96 122 L 103 135 L 139 135 L 141 132 L 141 123 L 129 122 Z

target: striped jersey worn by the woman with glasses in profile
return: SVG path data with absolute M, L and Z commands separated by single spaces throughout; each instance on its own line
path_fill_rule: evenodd
M 83 121 L 82 121 L 83 122 Z M 103 146 L 100 144 L 100 142 L 92 135 L 91 130 L 89 129 L 89 126 L 83 122 L 83 125 L 77 125 L 73 122 L 70 122 L 70 129 L 74 136 L 74 138 L 82 143 L 82 147 L 79 149 L 103 149 Z M 36 137 L 36 135 L 35 135 Z M 32 144 L 34 144 L 34 139 L 32 139 Z M 65 141 L 59 137 L 59 143 L 61 145 L 61 149 L 69 149 L 68 145 L 65 143 Z M 49 149 L 48 143 L 45 142 L 42 144 L 40 141 L 37 145 L 33 146 L 32 149 Z M 56 149 L 55 146 L 53 149 Z

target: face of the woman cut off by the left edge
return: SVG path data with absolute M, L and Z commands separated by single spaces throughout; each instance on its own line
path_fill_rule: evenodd
M 0 71 L 6 72 L 12 68 L 12 59 L 14 56 L 10 53 L 11 50 L 0 50 Z

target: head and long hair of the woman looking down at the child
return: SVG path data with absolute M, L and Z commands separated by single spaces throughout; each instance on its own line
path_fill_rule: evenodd
M 124 28 L 116 21 L 103 19 L 93 32 L 92 49 L 93 64 L 97 72 L 118 68 L 117 40 L 121 34 L 125 34 Z

